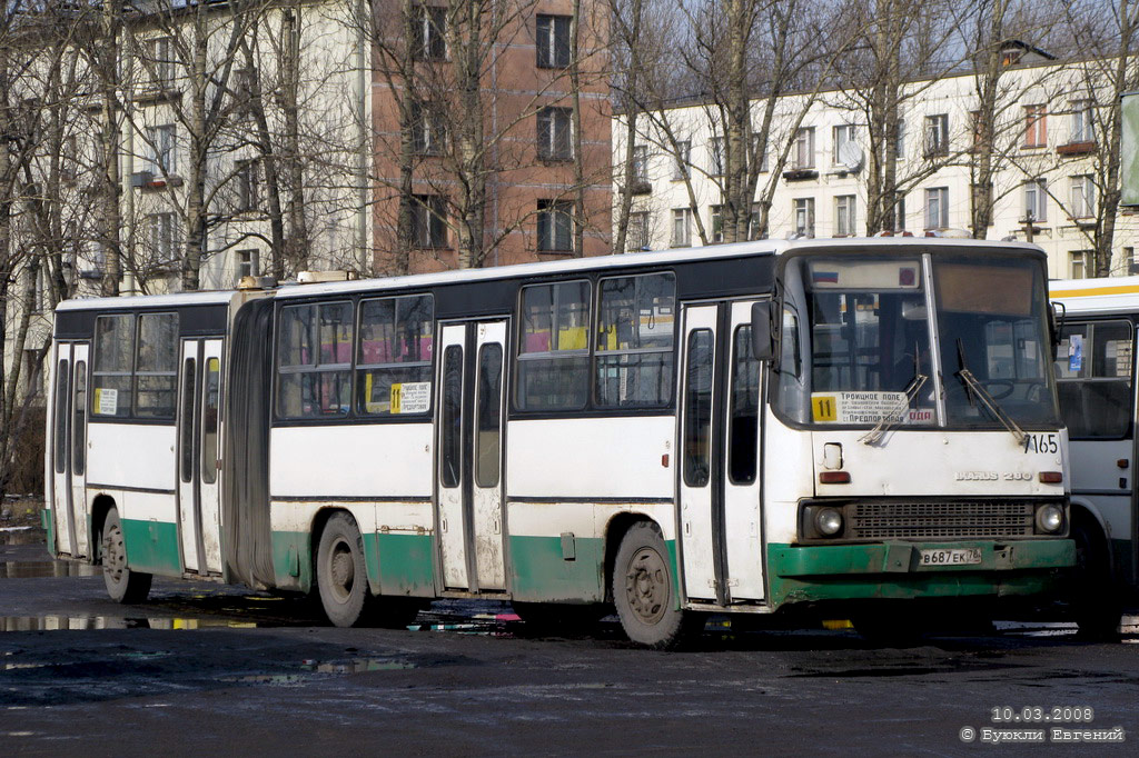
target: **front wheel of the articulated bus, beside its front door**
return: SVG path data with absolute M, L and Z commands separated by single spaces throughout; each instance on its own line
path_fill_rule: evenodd
M 703 621 L 679 608 L 669 551 L 656 524 L 639 521 L 625 533 L 613 565 L 612 588 L 622 628 L 646 648 L 675 648 Z

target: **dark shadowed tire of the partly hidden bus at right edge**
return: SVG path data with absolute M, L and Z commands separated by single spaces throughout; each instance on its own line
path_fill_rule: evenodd
M 1071 586 L 1072 612 L 1080 636 L 1087 640 L 1114 640 L 1120 633 L 1123 605 L 1120 588 L 1112 580 L 1107 538 L 1090 517 L 1072 520 L 1075 542 L 1075 569 Z

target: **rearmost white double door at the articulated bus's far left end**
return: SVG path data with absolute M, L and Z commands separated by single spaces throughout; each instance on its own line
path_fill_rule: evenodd
M 73 558 L 90 555 L 87 530 L 87 387 L 85 343 L 56 348 L 52 410 L 52 488 L 56 549 Z

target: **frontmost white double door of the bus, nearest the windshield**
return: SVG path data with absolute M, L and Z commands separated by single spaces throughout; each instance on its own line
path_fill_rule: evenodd
M 680 379 L 680 553 L 685 594 L 763 599 L 760 398 L 752 300 L 685 306 Z

